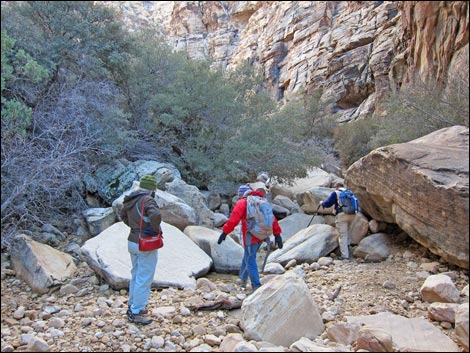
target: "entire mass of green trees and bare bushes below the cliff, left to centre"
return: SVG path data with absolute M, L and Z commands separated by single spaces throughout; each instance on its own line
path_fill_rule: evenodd
M 83 176 L 142 141 L 202 188 L 317 161 L 305 104 L 279 110 L 248 63 L 190 60 L 99 3 L 2 2 L 1 36 L 5 232 L 86 208 Z

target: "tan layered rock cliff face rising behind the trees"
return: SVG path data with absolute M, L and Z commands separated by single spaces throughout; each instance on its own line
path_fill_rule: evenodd
M 458 72 L 456 58 L 468 53 L 465 1 L 104 3 L 129 27 L 156 26 L 192 58 L 260 66 L 279 100 L 322 88 L 342 121 L 378 109 L 384 94 L 416 75 L 443 80 L 452 67 Z

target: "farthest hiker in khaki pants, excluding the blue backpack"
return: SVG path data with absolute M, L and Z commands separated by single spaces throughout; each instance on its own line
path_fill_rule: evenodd
M 349 226 L 354 220 L 355 214 L 347 214 L 343 212 L 342 207 L 339 203 L 339 193 L 344 190 L 343 183 L 335 184 L 335 191 L 333 191 L 326 201 L 320 201 L 319 207 L 328 208 L 335 206 L 336 211 L 336 229 L 339 232 L 339 249 L 341 251 L 340 260 L 349 260 Z

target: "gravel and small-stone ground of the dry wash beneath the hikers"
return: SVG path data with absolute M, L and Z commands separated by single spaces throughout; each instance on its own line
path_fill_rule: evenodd
M 326 327 L 345 322 L 349 315 L 382 311 L 427 318 L 429 303 L 421 301 L 419 289 L 429 274 L 448 273 L 459 290 L 468 285 L 468 271 L 440 262 L 411 239 L 393 245 L 383 262 L 333 259 L 323 266 L 298 267 Z M 154 323 L 135 326 L 126 319 L 125 290 L 114 291 L 100 283 L 85 263 L 78 272 L 78 292 L 38 295 L 2 265 L 2 352 L 31 351 L 31 337 L 39 337 L 53 352 L 219 351 L 227 334 L 242 333 L 240 310 L 190 309 L 220 294 L 243 299 L 246 292 L 235 284 L 236 276 L 209 274 L 209 281 L 202 281 L 196 290 L 154 289 L 148 307 Z M 268 279 L 262 275 L 262 281 Z M 461 299 L 468 302 L 468 297 Z M 433 323 L 454 339 L 452 324 Z M 321 339 L 327 341 L 326 333 Z

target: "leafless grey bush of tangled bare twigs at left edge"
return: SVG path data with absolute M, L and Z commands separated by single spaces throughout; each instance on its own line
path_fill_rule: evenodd
M 55 100 L 36 107 L 27 136 L 2 138 L 2 248 L 44 223 L 70 226 L 70 216 L 86 208 L 81 177 L 100 155 L 112 155 L 109 141 L 119 135 L 118 122 L 107 121 L 113 85 L 81 81 L 55 90 Z

